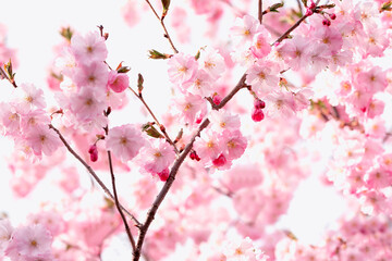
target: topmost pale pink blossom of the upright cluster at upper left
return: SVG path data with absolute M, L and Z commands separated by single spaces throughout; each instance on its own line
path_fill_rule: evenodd
M 71 38 L 71 51 L 82 64 L 103 62 L 108 55 L 105 38 L 98 32 L 90 32 L 85 36 L 79 34 Z

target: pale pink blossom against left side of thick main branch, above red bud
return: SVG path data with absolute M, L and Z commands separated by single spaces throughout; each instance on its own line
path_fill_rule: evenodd
M 158 174 L 168 169 L 175 159 L 173 147 L 164 140 L 140 151 L 139 164 L 145 171 Z

